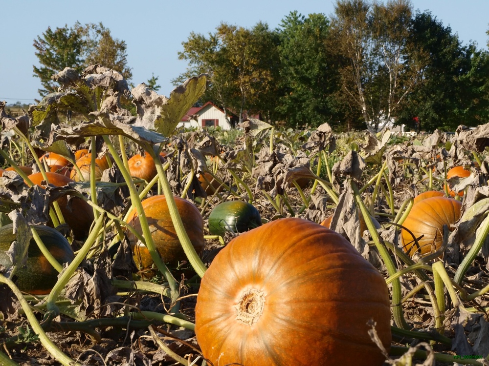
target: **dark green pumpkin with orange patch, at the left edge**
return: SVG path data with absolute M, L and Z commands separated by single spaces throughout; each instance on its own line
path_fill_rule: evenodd
M 48 226 L 36 226 L 36 231 L 47 250 L 60 264 L 70 263 L 73 260 L 73 249 L 67 239 L 58 231 Z M 15 240 L 17 240 L 17 235 L 13 234 L 13 224 L 0 227 L 0 265 L 10 266 L 7 251 Z M 31 239 L 26 263 L 20 266 L 15 274 L 17 286 L 21 291 L 33 295 L 44 295 L 48 294 L 56 284 L 59 273 L 44 257 L 36 241 Z

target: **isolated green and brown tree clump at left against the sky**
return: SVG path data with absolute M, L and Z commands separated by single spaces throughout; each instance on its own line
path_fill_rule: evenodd
M 57 90 L 51 76 L 71 67 L 81 73 L 87 66 L 100 63 L 120 72 L 126 80 L 132 78 L 127 65 L 126 42 L 111 37 L 111 32 L 102 23 L 85 24 L 76 22 L 73 27 L 65 25 L 54 31 L 47 30 L 34 40 L 35 55 L 41 66 L 33 65 L 34 76 L 41 80 L 44 97 Z

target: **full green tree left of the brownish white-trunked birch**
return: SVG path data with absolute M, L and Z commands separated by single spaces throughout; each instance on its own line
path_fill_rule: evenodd
M 280 54 L 280 119 L 289 126 L 318 126 L 338 119 L 333 94 L 338 74 L 326 40 L 329 20 L 324 14 L 307 18 L 290 12 L 277 29 Z

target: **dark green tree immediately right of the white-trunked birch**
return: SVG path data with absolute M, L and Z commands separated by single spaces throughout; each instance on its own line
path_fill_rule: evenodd
M 418 117 L 423 130 L 454 130 L 474 125 L 487 116 L 484 84 L 487 56 L 475 45 L 462 46 L 430 12 L 412 19 L 409 54 L 422 64 L 419 78 L 403 103 L 399 122 L 411 124 Z

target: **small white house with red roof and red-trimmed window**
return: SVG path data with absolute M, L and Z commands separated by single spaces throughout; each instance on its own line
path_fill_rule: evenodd
M 236 117 L 228 113 L 229 120 Z M 192 107 L 183 116 L 178 127 L 211 127 L 220 126 L 223 130 L 231 129 L 231 125 L 226 121 L 224 111 L 215 106 L 212 102 L 207 102 L 201 107 Z

